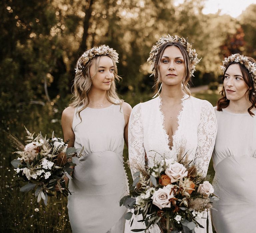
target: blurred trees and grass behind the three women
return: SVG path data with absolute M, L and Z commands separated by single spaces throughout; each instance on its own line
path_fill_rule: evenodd
M 203 0 L 179 5 L 174 0 L 0 2 L 1 232 L 71 232 L 66 200 L 51 198 L 44 207 L 32 194 L 19 192 L 10 167 L 14 149 L 4 131 L 23 142 L 24 125 L 62 137 L 61 112 L 70 100 L 73 68 L 86 49 L 106 44 L 119 53 L 118 93 L 133 107 L 152 98 L 146 63 L 152 45 L 167 33 L 188 37 L 202 57 L 191 83 L 199 86 L 193 95 L 216 104 L 223 58 L 232 53 L 256 57 L 256 4 L 238 18 L 205 15 L 203 7 Z

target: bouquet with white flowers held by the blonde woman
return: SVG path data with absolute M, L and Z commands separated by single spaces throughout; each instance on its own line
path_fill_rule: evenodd
M 9 135 L 12 144 L 18 149 L 14 153 L 19 155 L 17 159 L 11 161 L 16 171 L 14 176 L 28 182 L 20 191 L 27 192 L 37 187 L 35 191 L 37 202 L 43 199 L 45 205 L 48 196 L 54 196 L 52 192 L 56 185 L 60 190 L 56 191 L 58 199 L 61 195 L 68 196 L 70 192 L 64 177 L 66 175 L 71 179 L 73 169 L 70 166 L 79 163 L 78 158 L 83 148 L 77 155 L 75 147 L 67 148 L 68 141 L 64 142 L 63 139 L 54 137 L 54 134 L 52 138 L 46 138 L 39 133 L 34 138 L 34 133 L 30 133 L 26 127 L 25 129 L 28 134 L 26 136 L 28 144 L 25 146 L 17 138 Z

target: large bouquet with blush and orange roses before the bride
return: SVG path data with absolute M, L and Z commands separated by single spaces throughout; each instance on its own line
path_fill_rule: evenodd
M 160 163 L 133 174 L 136 178 L 130 189 L 131 195 L 124 196 L 120 206 L 134 209 L 126 213 L 125 218 L 130 220 L 135 215 L 141 215 L 139 222 L 144 222 L 146 228 L 132 231 L 146 232 L 154 224 L 159 226 L 161 232 L 172 233 L 193 233 L 196 226 L 204 228 L 198 219 L 212 208 L 214 190 L 190 164 L 163 158 Z

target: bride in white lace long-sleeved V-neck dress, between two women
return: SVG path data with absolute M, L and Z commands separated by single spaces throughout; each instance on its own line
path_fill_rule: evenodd
M 212 105 L 192 97 L 188 90 L 195 65 L 200 61 L 196 51 L 183 37 L 166 35 L 152 47 L 148 61 L 152 65 L 154 88 L 159 96 L 136 105 L 132 110 L 128 131 L 132 174 L 144 169 L 145 159 L 149 166 L 154 160 L 160 162 L 163 154 L 167 159 L 177 160 L 177 150 L 185 141 L 189 160 L 193 160 L 198 171 L 206 176 L 217 125 Z M 207 213 L 204 217 L 207 218 Z M 125 232 L 145 228 L 144 223 L 135 220 L 140 219 L 136 217 L 132 227 L 126 221 Z M 206 232 L 206 219 L 199 222 L 204 229 L 198 227 L 195 232 Z M 150 232 L 159 233 L 160 229 L 154 226 Z M 211 224 L 209 232 L 212 232 Z

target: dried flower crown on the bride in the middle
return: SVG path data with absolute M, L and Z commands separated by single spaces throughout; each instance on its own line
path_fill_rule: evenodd
M 188 42 L 188 39 L 185 39 L 183 37 L 179 37 L 177 35 L 175 35 L 174 37 L 170 36 L 169 34 L 167 34 L 166 36 L 162 36 L 155 45 L 153 45 L 150 53 L 149 53 L 149 58 L 148 58 L 148 62 L 151 62 L 151 69 L 152 69 L 152 74 L 151 75 L 155 75 L 156 71 L 155 71 L 155 63 L 156 63 L 156 57 L 158 54 L 158 51 L 160 49 L 160 47 L 166 43 L 169 42 L 176 42 L 176 43 L 180 43 L 188 52 L 188 57 L 189 57 L 189 65 L 190 65 L 190 74 L 189 76 L 194 76 L 193 73 L 196 70 L 196 64 L 198 64 L 202 58 L 197 58 L 197 53 L 195 49 L 192 49 L 192 45 Z

